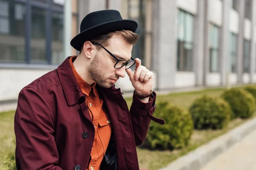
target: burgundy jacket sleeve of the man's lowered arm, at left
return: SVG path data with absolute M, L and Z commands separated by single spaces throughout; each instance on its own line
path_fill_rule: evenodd
M 61 170 L 54 139 L 54 115 L 34 88 L 23 88 L 15 112 L 16 165 L 22 170 Z

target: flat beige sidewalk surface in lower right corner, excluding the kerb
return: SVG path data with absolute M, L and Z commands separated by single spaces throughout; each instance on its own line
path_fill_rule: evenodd
M 256 130 L 201 170 L 256 170 Z

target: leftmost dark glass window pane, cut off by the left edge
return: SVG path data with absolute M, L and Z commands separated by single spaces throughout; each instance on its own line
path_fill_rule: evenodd
M 0 62 L 25 62 L 25 4 L 0 2 Z

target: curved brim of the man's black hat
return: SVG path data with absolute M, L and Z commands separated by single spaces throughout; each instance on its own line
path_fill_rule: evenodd
M 84 44 L 84 42 L 91 40 L 97 36 L 100 36 L 102 34 L 107 34 L 113 31 L 118 31 L 121 29 L 135 32 L 137 27 L 138 27 L 138 24 L 134 20 L 111 21 L 111 22 L 100 24 L 98 26 L 94 26 L 92 28 L 82 31 L 70 41 L 70 45 L 73 48 L 75 48 L 77 51 L 80 51 L 81 46 Z

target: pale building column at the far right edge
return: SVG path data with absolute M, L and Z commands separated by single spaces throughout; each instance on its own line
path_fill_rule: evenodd
M 255 25 L 256 25 L 256 0 L 252 0 L 252 25 L 251 25 L 251 43 L 250 43 L 250 83 L 253 83 L 255 74 Z

